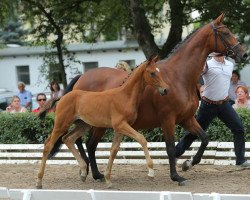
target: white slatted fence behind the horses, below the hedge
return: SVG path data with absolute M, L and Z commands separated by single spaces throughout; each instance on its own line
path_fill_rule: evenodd
M 194 142 L 189 150 L 178 159 L 179 163 L 195 155 L 200 142 Z M 85 146 L 84 146 L 85 147 Z M 97 163 L 107 163 L 111 143 L 99 143 L 96 151 Z M 209 142 L 201 164 L 230 165 L 235 164 L 232 142 Z M 168 164 L 165 143 L 149 142 L 148 148 L 155 164 Z M 86 149 L 86 148 L 85 148 Z M 37 163 L 40 162 L 43 144 L 0 144 L 0 164 Z M 250 159 L 250 142 L 246 143 L 246 158 Z M 75 158 L 63 145 L 60 152 L 48 160 L 48 164 L 76 164 Z M 115 163 L 139 164 L 146 163 L 143 150 L 137 142 L 121 143 Z

